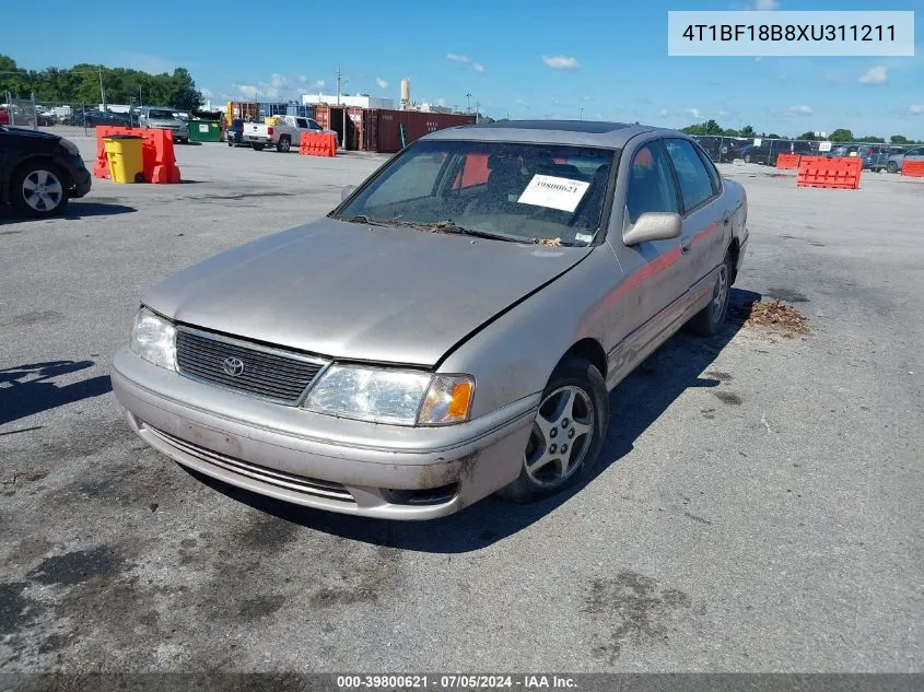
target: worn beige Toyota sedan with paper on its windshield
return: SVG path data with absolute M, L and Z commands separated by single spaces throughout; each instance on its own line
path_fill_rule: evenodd
M 608 390 L 683 324 L 723 330 L 747 212 L 677 131 L 440 130 L 327 218 L 150 290 L 113 389 L 155 449 L 279 500 L 538 500 L 593 477 Z

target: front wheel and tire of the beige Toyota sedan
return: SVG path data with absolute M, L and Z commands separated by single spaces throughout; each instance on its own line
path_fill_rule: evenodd
M 600 371 L 584 359 L 566 357 L 542 391 L 519 476 L 498 494 L 525 504 L 586 482 L 597 464 L 608 421 L 609 398 Z M 581 445 L 580 450 L 575 444 Z M 566 468 L 562 446 L 571 447 Z

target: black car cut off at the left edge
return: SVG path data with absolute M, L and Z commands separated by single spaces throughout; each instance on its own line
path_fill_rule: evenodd
M 70 140 L 50 132 L 0 127 L 0 204 L 51 216 L 90 191 L 90 171 Z

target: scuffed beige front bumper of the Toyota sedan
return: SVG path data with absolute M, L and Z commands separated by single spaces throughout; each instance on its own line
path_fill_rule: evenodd
M 113 390 L 131 427 L 183 466 L 285 502 L 389 519 L 458 512 L 513 481 L 539 395 L 461 425 L 320 415 L 157 367 L 127 348 Z

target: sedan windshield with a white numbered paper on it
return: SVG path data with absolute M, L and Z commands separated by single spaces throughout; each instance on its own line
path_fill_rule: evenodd
M 589 245 L 618 150 L 511 142 L 412 144 L 335 218 Z

